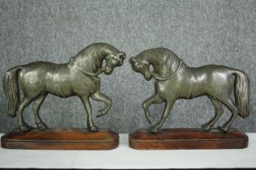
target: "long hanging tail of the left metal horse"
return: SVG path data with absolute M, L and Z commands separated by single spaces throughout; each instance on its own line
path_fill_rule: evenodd
M 18 83 L 18 73 L 22 67 L 15 66 L 7 70 L 3 78 L 3 90 L 7 97 L 8 116 L 15 117 L 18 104 L 20 103 L 20 89 Z

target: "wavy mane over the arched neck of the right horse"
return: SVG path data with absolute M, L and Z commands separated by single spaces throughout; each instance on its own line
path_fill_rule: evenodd
M 168 77 L 180 65 L 182 60 L 176 56 L 170 49 L 154 48 L 148 49 L 139 54 L 141 59 L 145 59 L 149 64 L 154 66 L 154 71 L 163 76 Z

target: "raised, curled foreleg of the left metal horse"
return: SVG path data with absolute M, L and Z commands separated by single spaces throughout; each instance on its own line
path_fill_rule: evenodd
M 100 91 L 97 91 L 92 95 L 93 100 L 102 101 L 104 104 L 106 104 L 106 107 L 98 110 L 96 117 L 102 117 L 106 115 L 106 113 L 111 109 L 112 101 L 111 98 L 109 98 L 106 95 L 103 95 Z

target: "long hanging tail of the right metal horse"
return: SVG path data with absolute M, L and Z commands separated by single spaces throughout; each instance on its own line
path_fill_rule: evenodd
M 235 79 L 235 100 L 238 107 L 240 117 L 249 116 L 249 79 L 248 76 L 241 70 L 234 72 Z

